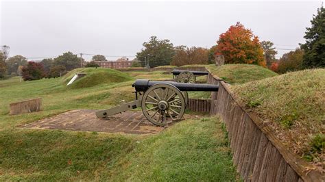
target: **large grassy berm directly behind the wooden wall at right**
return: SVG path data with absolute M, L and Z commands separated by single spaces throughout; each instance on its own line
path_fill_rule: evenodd
M 281 142 L 324 162 L 325 69 L 302 70 L 232 86 L 237 100 L 269 122 Z

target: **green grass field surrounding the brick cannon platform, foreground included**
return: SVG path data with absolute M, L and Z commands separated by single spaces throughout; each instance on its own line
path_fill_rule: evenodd
M 97 74 L 97 70 L 88 71 Z M 88 86 L 75 88 L 65 86 L 66 77 L 0 81 L 0 181 L 238 179 L 218 118 L 182 121 L 156 135 L 19 128 L 71 109 L 104 109 L 121 100 L 132 101 L 134 79 L 171 79 L 161 72 L 99 72 L 108 79 L 114 74 L 122 81 L 85 81 Z M 9 103 L 36 97 L 42 97 L 43 111 L 8 115 Z

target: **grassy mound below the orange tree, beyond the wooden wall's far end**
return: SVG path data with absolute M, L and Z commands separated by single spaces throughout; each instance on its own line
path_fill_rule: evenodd
M 222 66 L 210 64 L 206 66 L 206 68 L 210 70 L 213 75 L 224 79 L 232 85 L 247 83 L 278 75 L 272 70 L 253 64 L 224 64 Z

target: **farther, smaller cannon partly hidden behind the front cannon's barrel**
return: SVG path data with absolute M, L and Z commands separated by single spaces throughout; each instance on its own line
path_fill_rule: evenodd
M 173 70 L 173 79 L 180 83 L 195 83 L 197 75 L 208 75 L 206 71 Z

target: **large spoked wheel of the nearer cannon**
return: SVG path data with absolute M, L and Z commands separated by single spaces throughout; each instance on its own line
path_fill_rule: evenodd
M 158 83 L 143 94 L 141 107 L 147 120 L 163 127 L 182 118 L 185 112 L 185 99 L 175 86 Z

